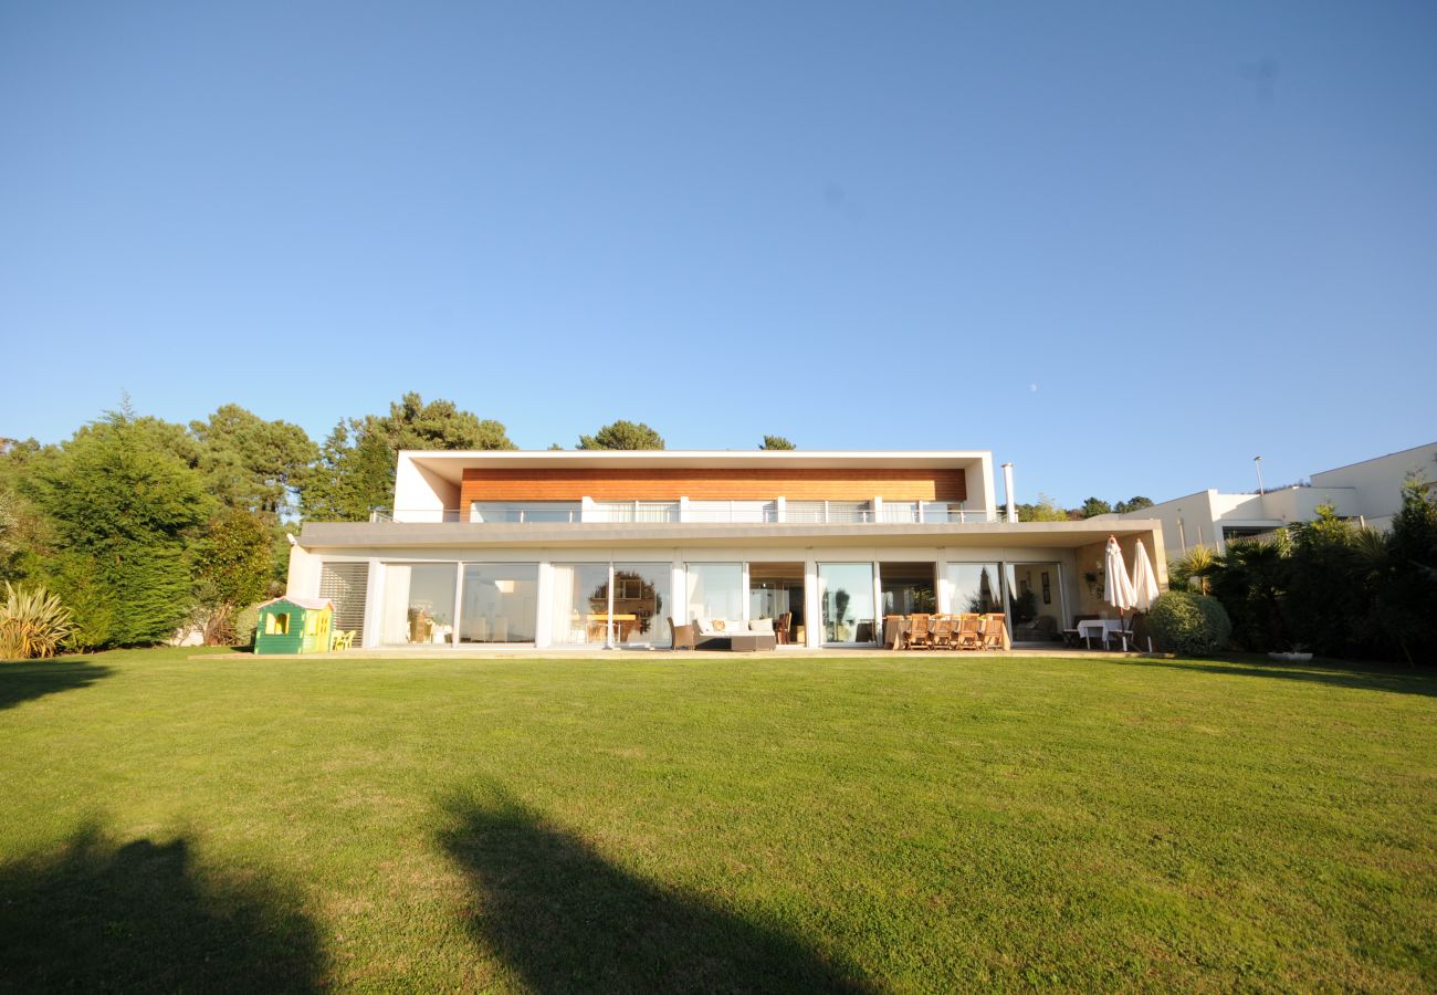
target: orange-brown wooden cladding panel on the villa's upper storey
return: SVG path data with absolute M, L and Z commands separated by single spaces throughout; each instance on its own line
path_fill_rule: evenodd
M 474 500 L 967 500 L 963 470 L 464 470 Z

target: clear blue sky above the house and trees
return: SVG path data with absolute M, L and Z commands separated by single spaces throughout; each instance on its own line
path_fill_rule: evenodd
M 1020 499 L 1437 439 L 1437 4 L 0 1 L 0 436 L 992 449 Z

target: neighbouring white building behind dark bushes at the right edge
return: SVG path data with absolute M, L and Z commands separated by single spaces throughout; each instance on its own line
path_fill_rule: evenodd
M 1263 538 L 1292 522 L 1311 522 L 1322 505 L 1332 505 L 1341 518 L 1387 531 L 1403 506 L 1403 482 L 1414 473 L 1428 486 L 1437 483 L 1437 443 L 1313 473 L 1311 486 L 1262 495 L 1198 490 L 1128 515 L 1101 518 L 1158 519 L 1173 556 L 1196 545 L 1223 552 L 1230 539 Z

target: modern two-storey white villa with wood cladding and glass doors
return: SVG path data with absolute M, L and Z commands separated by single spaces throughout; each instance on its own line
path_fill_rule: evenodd
M 1009 492 L 1012 490 L 1009 476 Z M 404 451 L 394 509 L 306 522 L 289 595 L 365 647 L 670 646 L 697 618 L 877 646 L 885 615 L 1105 615 L 1104 545 L 1157 521 L 1017 522 L 989 451 Z

